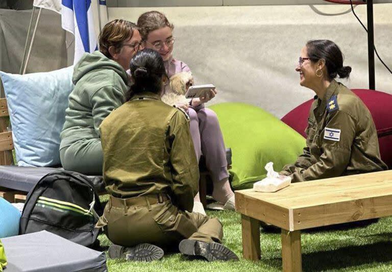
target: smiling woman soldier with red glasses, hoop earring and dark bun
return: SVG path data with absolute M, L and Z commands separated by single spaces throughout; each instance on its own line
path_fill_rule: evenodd
M 310 108 L 304 153 L 281 175 L 293 182 L 386 170 L 380 158 L 370 111 L 336 76 L 348 78 L 339 47 L 329 40 L 308 41 L 296 67 L 301 86 L 316 93 Z

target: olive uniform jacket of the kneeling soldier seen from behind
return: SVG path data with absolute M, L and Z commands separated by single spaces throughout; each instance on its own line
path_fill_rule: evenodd
M 184 112 L 145 92 L 115 109 L 100 130 L 109 193 L 166 193 L 179 209 L 192 211 L 199 165 Z

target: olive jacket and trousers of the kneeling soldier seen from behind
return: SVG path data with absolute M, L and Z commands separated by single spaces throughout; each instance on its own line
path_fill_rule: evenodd
M 187 115 L 142 93 L 101 124 L 104 180 L 111 194 L 97 227 L 115 244 L 174 246 L 182 239 L 220 242 L 216 218 L 190 213 L 199 166 Z

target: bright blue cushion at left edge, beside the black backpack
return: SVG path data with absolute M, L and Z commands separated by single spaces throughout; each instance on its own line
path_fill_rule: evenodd
M 0 197 L 0 238 L 18 235 L 20 212 Z

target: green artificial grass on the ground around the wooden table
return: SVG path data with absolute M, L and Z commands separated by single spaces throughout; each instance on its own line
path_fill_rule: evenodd
M 189 260 L 179 253 L 165 255 L 150 263 L 108 259 L 109 271 L 281 271 L 280 233 L 261 231 L 261 260 L 242 258 L 240 214 L 207 211 L 224 225 L 223 243 L 238 255 L 238 262 Z M 380 219 L 367 227 L 338 230 L 311 230 L 302 233 L 302 267 L 304 271 L 392 271 L 392 217 Z M 110 241 L 99 239 L 103 246 Z

